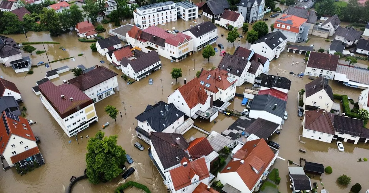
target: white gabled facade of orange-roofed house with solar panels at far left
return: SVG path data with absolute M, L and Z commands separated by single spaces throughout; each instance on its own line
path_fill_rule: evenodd
M 14 146 L 14 147 L 13 147 Z M 5 147 L 5 150 L 3 152 L 3 155 L 6 162 L 9 164 L 10 167 L 13 167 L 15 163 L 11 162 L 12 156 L 15 156 L 17 154 L 23 153 L 24 151 L 27 151 L 28 149 L 37 147 L 37 144 L 35 141 L 26 139 L 24 137 L 14 135 L 13 133 L 9 136 L 9 141 Z M 13 154 L 15 151 L 15 154 Z M 33 156 L 33 155 L 32 155 Z

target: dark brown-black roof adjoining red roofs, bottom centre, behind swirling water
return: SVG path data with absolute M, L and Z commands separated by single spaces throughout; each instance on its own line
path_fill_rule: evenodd
M 176 143 L 177 137 L 180 138 L 179 144 Z M 180 164 L 183 157 L 190 158 L 185 151 L 189 144 L 181 134 L 152 132 L 150 141 L 164 169 Z

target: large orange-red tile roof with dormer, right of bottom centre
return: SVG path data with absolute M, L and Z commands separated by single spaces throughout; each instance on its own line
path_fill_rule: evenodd
M 251 189 L 255 186 L 256 182 L 258 182 L 269 163 L 273 160 L 275 154 L 264 139 L 246 142 L 238 151 L 247 151 L 245 158 L 241 159 L 244 160 L 244 163 L 242 164 L 241 160 L 235 161 L 233 159 L 220 173 L 237 172 L 245 185 Z M 259 172 L 256 173 L 252 167 L 260 168 Z

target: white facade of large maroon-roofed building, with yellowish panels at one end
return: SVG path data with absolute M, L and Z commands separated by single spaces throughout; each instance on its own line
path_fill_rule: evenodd
M 44 95 L 41 94 L 40 96 L 42 104 L 44 104 L 45 108 L 50 112 L 52 117 L 54 117 L 55 121 L 61 126 L 63 131 L 71 137 L 75 135 L 76 132 L 80 132 L 90 126 L 90 123 L 94 121 L 98 121 L 96 110 L 94 104 L 90 104 L 89 106 L 74 112 L 73 114 L 69 115 L 66 118 L 61 118 L 58 112 L 51 106 L 48 100 L 45 99 Z M 68 100 L 68 99 L 66 99 Z M 79 125 L 85 124 L 84 126 L 76 129 Z

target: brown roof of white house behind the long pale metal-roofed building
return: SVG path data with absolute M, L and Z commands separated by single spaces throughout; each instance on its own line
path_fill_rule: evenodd
M 310 52 L 307 67 L 336 71 L 339 56 L 320 52 Z

